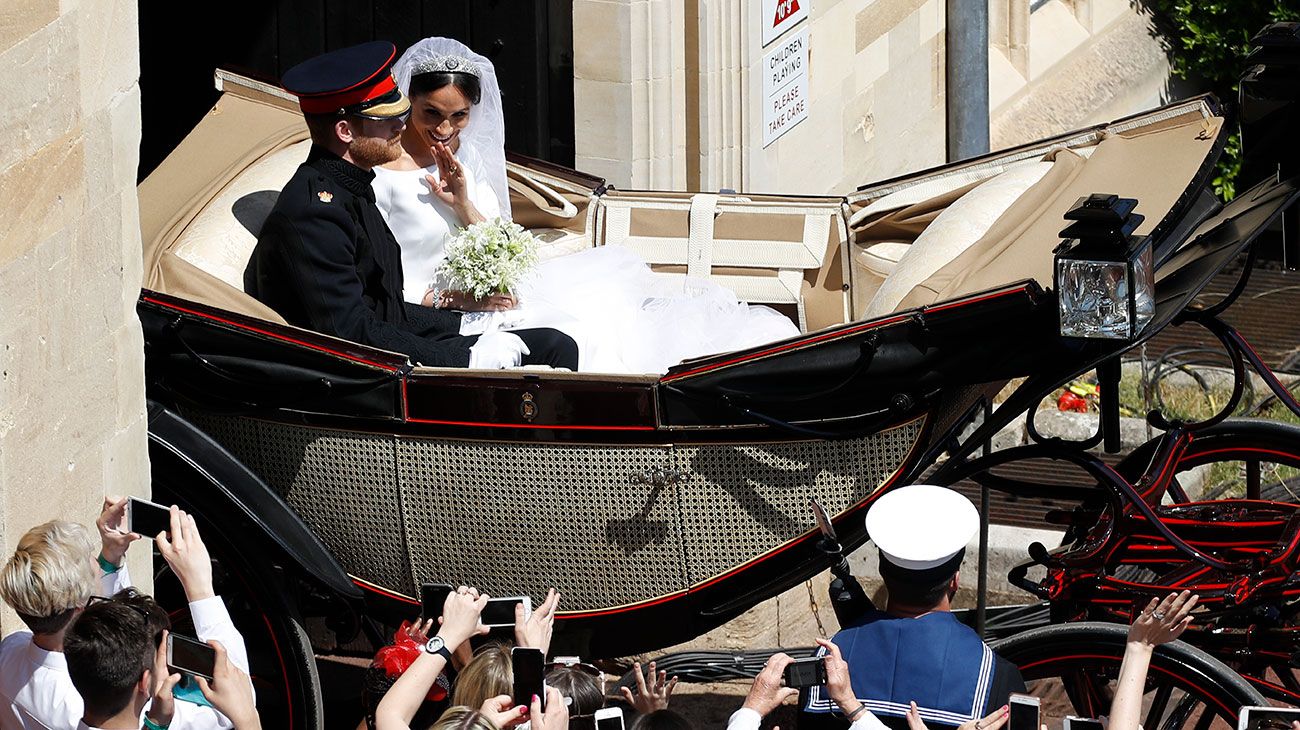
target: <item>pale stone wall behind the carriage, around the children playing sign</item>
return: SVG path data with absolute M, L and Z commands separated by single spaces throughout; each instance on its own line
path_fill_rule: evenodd
M 809 118 L 767 148 L 759 5 L 575 0 L 577 168 L 624 188 L 845 194 L 945 161 L 945 0 L 805 1 Z M 989 0 L 989 42 L 992 149 L 1167 96 L 1128 0 Z

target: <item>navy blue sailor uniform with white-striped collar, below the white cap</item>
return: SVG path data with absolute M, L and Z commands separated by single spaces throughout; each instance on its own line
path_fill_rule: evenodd
M 906 727 L 913 701 L 927 725 L 957 726 L 1024 691 L 1015 665 L 946 610 L 915 618 L 871 610 L 832 640 L 849 664 L 854 696 L 892 727 Z M 809 690 L 802 711 L 801 729 L 848 726 L 824 686 Z

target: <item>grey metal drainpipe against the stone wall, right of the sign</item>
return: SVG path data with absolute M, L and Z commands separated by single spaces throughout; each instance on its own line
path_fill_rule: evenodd
M 988 152 L 988 1 L 946 0 L 948 161 Z

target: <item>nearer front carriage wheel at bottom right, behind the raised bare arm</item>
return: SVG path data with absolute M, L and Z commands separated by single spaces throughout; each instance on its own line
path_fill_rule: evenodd
M 1030 629 L 993 644 L 1020 668 L 1030 694 L 1043 699 L 1043 717 L 1056 726 L 1066 714 L 1109 714 L 1128 627 L 1076 622 Z M 1147 730 L 1236 727 L 1243 705 L 1268 704 L 1227 665 L 1183 642 L 1157 647 L 1147 673 L 1141 726 Z

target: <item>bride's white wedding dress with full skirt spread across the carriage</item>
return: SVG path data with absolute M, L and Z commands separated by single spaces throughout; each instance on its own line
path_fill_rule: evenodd
M 478 210 L 491 218 L 499 205 L 484 181 L 481 161 L 462 145 L 456 155 Z M 402 245 L 404 297 L 419 303 L 432 286 L 445 288 L 434 270 L 459 221 L 432 196 L 425 174 L 437 169 L 376 169 L 374 195 Z M 585 373 L 666 373 L 677 362 L 744 349 L 798 334 L 785 316 L 736 300 L 707 279 L 656 274 L 636 253 L 597 247 L 542 262 L 515 292 L 510 312 L 473 312 L 460 334 L 554 327 L 578 344 Z

